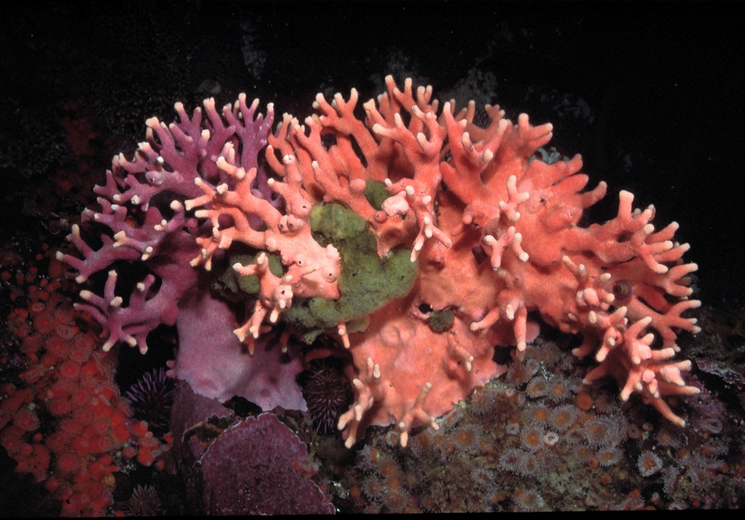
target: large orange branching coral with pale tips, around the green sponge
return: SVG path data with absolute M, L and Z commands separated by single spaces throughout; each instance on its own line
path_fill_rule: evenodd
M 550 124 L 532 126 L 525 114 L 515 124 L 499 107 L 486 107 L 489 123 L 482 128 L 474 124 L 473 103 L 456 112 L 446 102 L 439 110 L 430 87 L 414 91 L 407 80 L 400 90 L 391 77 L 386 81 L 388 92 L 363 105 L 364 121 L 354 114 L 356 91 L 347 101 L 319 94 L 317 115 L 304 125 L 285 115 L 268 138 L 267 160 L 285 181 L 271 184 L 288 201 L 281 218 L 305 229 L 311 205 L 342 203 L 367 220 L 380 256 L 406 248 L 419 261 L 414 288 L 370 314 L 364 332 L 349 334 L 356 399 L 339 422 L 348 444 L 367 424 L 394 422 L 402 444 L 412 427 L 434 425 L 471 388 L 503 372 L 492 361 L 494 345 L 515 344 L 522 353 L 537 334 L 530 311 L 584 336 L 575 354 L 595 353 L 601 362 L 587 382 L 614 376 L 624 399 L 640 392 L 682 424 L 662 396 L 696 392 L 681 378 L 690 364 L 670 358 L 677 350 L 673 328 L 697 331 L 681 313 L 699 302 L 686 299 L 685 276 L 696 265 L 681 261 L 688 246 L 673 242 L 677 224 L 655 231 L 654 208 L 633 210 L 633 196 L 621 192 L 616 218 L 580 227 L 583 211 L 605 195 L 606 185 L 583 191 L 588 177 L 580 173 L 580 156 L 553 164 L 534 156 L 551 139 Z M 217 164 L 231 174 L 236 169 L 224 159 Z M 202 211 L 215 220 L 234 207 L 243 213 L 266 207 L 274 215 L 265 219 L 268 235 L 279 213 L 264 201 L 252 205 L 242 188 L 251 175 L 219 201 L 210 195 L 212 209 Z M 380 207 L 369 196 L 375 182 L 387 192 Z M 233 239 L 241 236 L 238 228 L 230 229 Z M 256 231 L 242 240 L 278 250 L 289 275 L 298 269 L 298 252 L 314 243 L 283 231 L 282 242 L 256 241 Z M 310 256 L 316 268 L 324 265 Z M 298 276 L 291 280 L 291 287 L 302 287 Z M 619 294 L 626 286 L 627 294 Z M 275 309 L 276 321 L 276 304 L 263 305 Z M 442 312 L 452 313 L 453 323 L 435 331 L 429 319 Z M 257 309 L 254 317 L 265 313 Z M 649 329 L 662 339 L 661 349 L 653 347 L 651 332 L 642 334 Z M 252 330 L 258 333 L 256 323 Z

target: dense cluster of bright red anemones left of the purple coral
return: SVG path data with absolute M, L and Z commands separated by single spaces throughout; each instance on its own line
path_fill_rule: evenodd
M 131 420 L 113 379 L 116 357 L 98 348 L 96 325 L 73 309 L 64 282 L 35 268 L 5 278 L 16 282 L 8 328 L 26 366 L 0 385 L 0 444 L 17 472 L 61 502 L 63 516 L 105 514 L 119 463 L 137 457 L 149 466 L 163 447 L 147 423 Z

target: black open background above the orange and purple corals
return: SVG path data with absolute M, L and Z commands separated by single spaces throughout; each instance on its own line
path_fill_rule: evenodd
M 82 2 L 0 9 L 0 226 L 19 194 L 71 164 L 62 118 L 84 113 L 105 167 L 131 153 L 144 121 L 172 120 L 239 92 L 279 114 L 315 94 L 411 75 L 435 96 L 470 91 L 508 116 L 552 122 L 581 153 L 591 186 L 653 203 L 677 221 L 705 303 L 743 296 L 743 37 L 735 3 Z M 467 81 L 466 81 L 467 80 Z M 466 98 L 459 96 L 463 102 Z M 361 104 L 361 103 L 360 103 Z M 70 107 L 73 108 L 70 108 Z M 262 105 L 263 107 L 263 105 Z M 100 175 L 103 175 L 103 168 Z M 33 211 L 22 213 L 31 218 Z

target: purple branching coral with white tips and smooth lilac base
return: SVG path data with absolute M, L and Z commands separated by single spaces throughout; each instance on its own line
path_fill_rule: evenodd
M 249 106 L 241 95 L 221 113 L 208 99 L 191 116 L 177 103 L 179 120 L 170 125 L 148 120 L 146 142 L 129 161 L 121 154 L 115 157 L 106 182 L 96 186 L 99 210 L 83 213 L 83 222 L 108 228 L 100 234 L 102 245 L 93 249 L 74 226 L 69 239 L 82 258 L 57 256 L 77 271 L 80 283 L 108 271 L 103 294 L 82 291 L 85 302 L 76 305 L 102 325 L 106 350 L 125 342 L 145 352 L 149 332 L 161 323 L 177 324 L 180 348 L 170 374 L 189 381 L 197 393 L 221 399 L 242 395 L 267 409 L 277 405 L 304 409 L 295 382 L 302 370 L 297 356 L 288 362 L 278 348 L 261 348 L 254 357 L 248 356 L 232 334 L 235 315 L 209 296 L 207 285 L 199 283 L 199 271 L 189 263 L 199 254 L 196 239 L 204 230 L 200 232 L 198 220 L 182 202 L 201 193 L 195 180 L 213 190 L 233 183 L 217 167 L 218 160 L 256 168 L 251 193 L 275 208 L 283 204 L 259 164 L 274 120 L 273 107 L 267 107 L 266 116 L 257 107 L 258 100 Z M 264 224 L 257 215 L 248 217 L 255 228 Z M 122 260 L 139 263 L 150 272 L 128 298 L 121 291 L 125 275 L 115 264 Z M 216 339 L 215 324 L 227 331 L 225 341 Z

